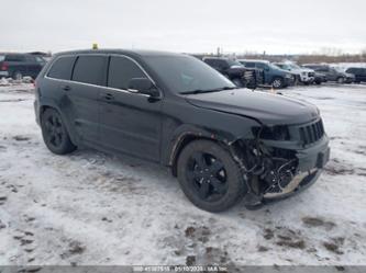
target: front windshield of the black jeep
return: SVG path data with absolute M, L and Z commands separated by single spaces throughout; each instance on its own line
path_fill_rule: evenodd
M 234 89 L 235 86 L 203 61 L 190 56 L 144 58 L 164 83 L 176 93 Z

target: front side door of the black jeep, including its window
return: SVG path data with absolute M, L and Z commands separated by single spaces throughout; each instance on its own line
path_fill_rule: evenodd
M 111 56 L 108 87 L 100 90 L 100 139 L 111 150 L 159 160 L 160 100 L 129 90 L 132 78 L 148 78 L 126 56 Z

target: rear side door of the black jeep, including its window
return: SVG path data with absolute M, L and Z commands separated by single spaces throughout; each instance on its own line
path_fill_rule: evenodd
M 71 81 L 62 89 L 73 104 L 74 125 L 84 141 L 99 143 L 99 94 L 107 80 L 106 55 L 77 57 Z

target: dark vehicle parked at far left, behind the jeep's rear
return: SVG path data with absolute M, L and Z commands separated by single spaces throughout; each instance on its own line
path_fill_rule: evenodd
M 32 54 L 0 53 L 0 78 L 35 79 L 45 64 L 43 57 Z

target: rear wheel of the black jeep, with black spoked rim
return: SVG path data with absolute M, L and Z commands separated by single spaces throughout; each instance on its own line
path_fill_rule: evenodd
M 47 148 L 56 155 L 66 155 L 76 150 L 60 114 L 46 109 L 41 116 L 42 136 Z

